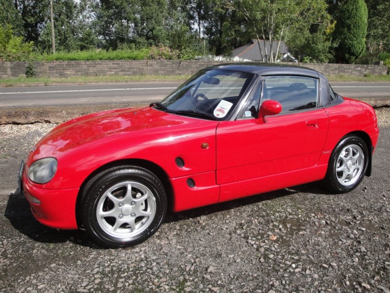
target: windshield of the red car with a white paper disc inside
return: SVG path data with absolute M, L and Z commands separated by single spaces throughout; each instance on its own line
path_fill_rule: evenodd
M 249 73 L 220 69 L 200 71 L 155 106 L 179 115 L 225 120 L 253 77 Z

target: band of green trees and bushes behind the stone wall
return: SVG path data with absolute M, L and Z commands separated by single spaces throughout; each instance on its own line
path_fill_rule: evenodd
M 390 52 L 390 0 L 53 0 L 55 56 L 46 55 L 49 0 L 0 0 L 0 7 L 0 60 L 29 60 L 31 42 L 44 53 L 36 60 L 230 56 L 251 39 L 283 41 L 299 60 L 320 63 L 373 63 Z M 151 54 L 137 51 L 150 46 Z M 264 59 L 278 57 L 274 50 Z

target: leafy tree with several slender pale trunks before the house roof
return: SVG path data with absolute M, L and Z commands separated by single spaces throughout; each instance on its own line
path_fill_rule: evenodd
M 226 4 L 239 12 L 246 20 L 248 30 L 253 32 L 255 39 L 263 40 L 265 54 L 260 50 L 263 61 L 276 62 L 282 41 L 292 30 L 309 30 L 313 24 L 324 24 L 326 19 L 326 3 L 324 0 L 238 0 Z M 271 46 L 267 52 L 265 41 L 277 42 L 275 52 Z

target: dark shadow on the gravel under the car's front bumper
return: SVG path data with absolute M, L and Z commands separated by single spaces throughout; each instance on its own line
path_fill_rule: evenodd
M 92 242 L 85 231 L 59 230 L 40 224 L 34 218 L 24 194 L 20 194 L 18 190 L 9 194 L 4 215 L 16 230 L 36 242 L 65 243 L 70 241 L 84 247 L 104 249 Z

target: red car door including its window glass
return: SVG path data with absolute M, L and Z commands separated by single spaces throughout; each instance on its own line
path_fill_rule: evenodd
M 265 100 L 278 101 L 282 112 L 263 120 L 246 118 L 251 113 L 247 109 L 244 117 L 217 126 L 216 180 L 221 187 L 283 173 L 292 176 L 288 172 L 310 168 L 318 162 L 329 124 L 328 114 L 318 106 L 319 80 L 302 76 L 266 77 L 261 102 Z M 240 196 L 227 197 L 224 198 L 222 190 L 220 201 Z

